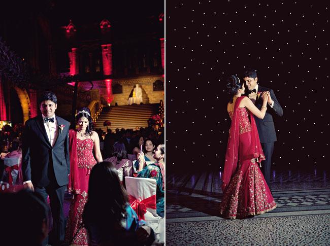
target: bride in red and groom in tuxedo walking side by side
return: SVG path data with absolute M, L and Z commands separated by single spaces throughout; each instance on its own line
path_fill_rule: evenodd
M 69 130 L 70 123 L 55 115 L 57 98 L 54 93 L 43 93 L 39 105 L 42 115 L 25 122 L 22 172 L 25 188 L 41 195 L 44 202 L 49 196 L 53 227 L 42 245 L 48 242 L 67 245 L 64 236 L 70 244 L 88 245 L 81 216 L 87 200 L 90 170 L 96 162 L 102 161 L 100 140 L 91 130 L 90 111 L 88 108 L 79 110 L 78 129 Z M 74 196 L 65 235 L 63 200 L 67 185 Z M 47 235 L 47 228 L 40 233 L 40 236 Z

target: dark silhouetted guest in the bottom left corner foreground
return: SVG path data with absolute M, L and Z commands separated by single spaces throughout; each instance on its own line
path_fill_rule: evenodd
M 48 206 L 30 190 L 0 193 L 1 245 L 42 245 L 48 235 Z

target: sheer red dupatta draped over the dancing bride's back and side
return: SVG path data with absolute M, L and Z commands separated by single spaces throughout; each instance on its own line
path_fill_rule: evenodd
M 240 114 L 238 111 L 238 107 L 240 105 L 241 100 L 245 96 L 240 96 L 236 99 L 235 105 L 234 105 L 234 113 L 232 118 L 232 124 L 230 125 L 229 129 L 229 136 L 228 136 L 228 144 L 227 144 L 227 150 L 225 155 L 225 161 L 224 161 L 224 170 L 222 175 L 222 185 L 221 189 L 224 192 L 227 188 L 230 180 L 233 178 L 236 168 L 237 168 L 237 162 L 238 162 L 238 150 L 239 150 L 239 139 L 240 139 Z M 259 134 L 258 130 L 255 124 L 254 117 L 250 113 L 250 121 L 251 121 L 251 127 L 252 127 L 252 139 L 251 139 L 251 148 L 255 148 L 253 153 L 253 156 L 251 156 L 251 161 L 255 161 L 257 159 L 257 162 L 261 162 L 265 160 L 265 155 L 263 155 L 260 140 L 259 140 Z

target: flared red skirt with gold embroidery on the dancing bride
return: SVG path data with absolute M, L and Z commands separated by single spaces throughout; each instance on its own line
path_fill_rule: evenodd
M 260 215 L 276 208 L 271 191 L 253 158 L 251 131 L 240 134 L 239 166 L 220 204 L 220 214 L 228 219 Z

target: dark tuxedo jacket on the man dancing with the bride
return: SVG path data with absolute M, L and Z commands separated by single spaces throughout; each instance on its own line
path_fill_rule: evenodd
M 259 119 L 258 117 L 254 117 L 255 119 L 255 124 L 257 125 L 258 133 L 259 133 L 259 138 L 260 138 L 260 143 L 271 143 L 271 142 L 276 142 L 276 131 L 275 131 L 275 126 L 274 126 L 274 121 L 273 121 L 273 116 L 278 115 L 278 116 L 283 116 L 283 109 L 278 102 L 275 93 L 272 89 L 262 87 L 258 85 L 258 93 L 262 91 L 269 91 L 270 95 L 272 97 L 272 100 L 274 101 L 274 106 L 273 108 L 269 106 L 267 103 L 267 111 L 265 114 L 265 117 L 263 119 Z M 249 96 L 246 94 L 246 96 Z M 255 101 L 255 106 L 261 110 L 262 107 L 262 98 L 261 96 L 256 98 Z

